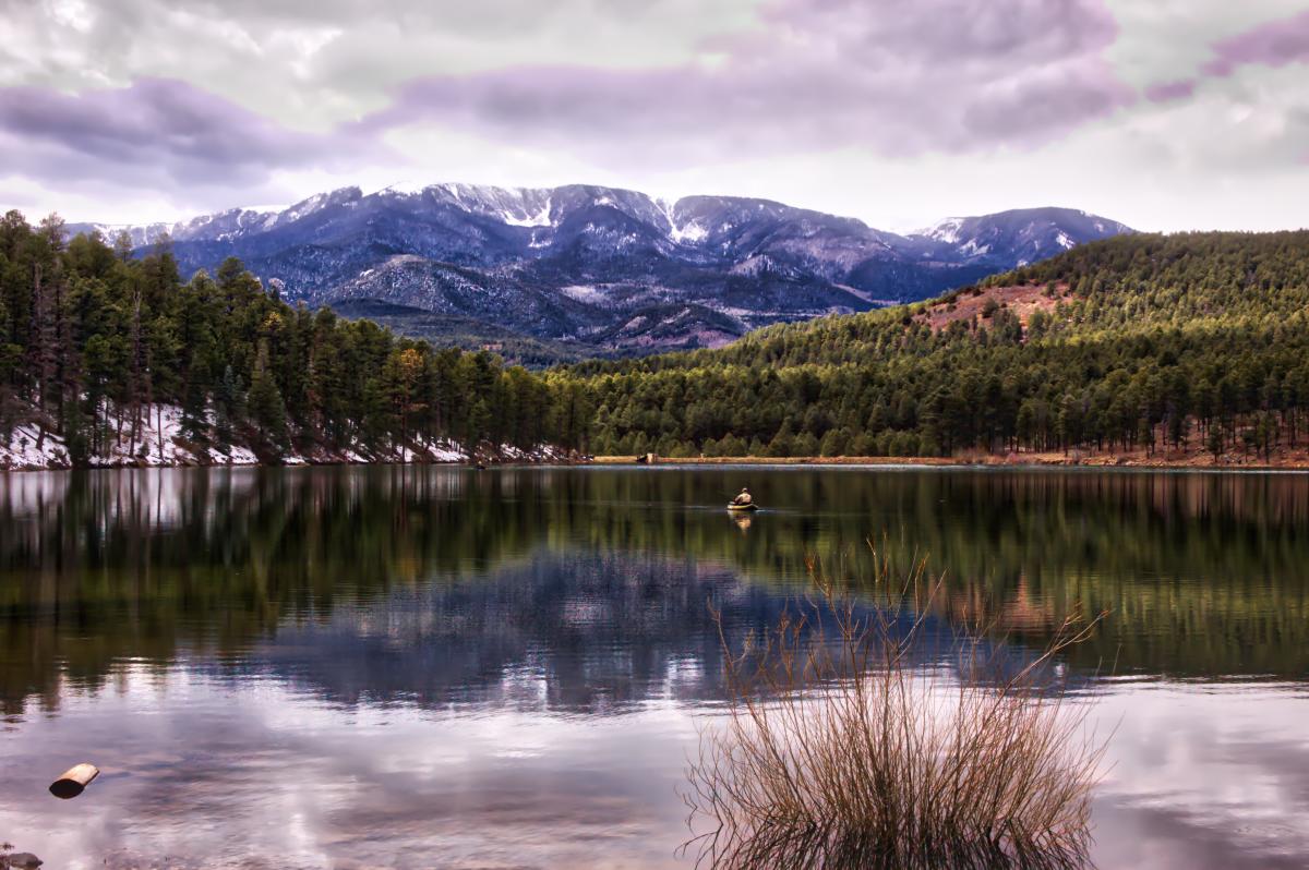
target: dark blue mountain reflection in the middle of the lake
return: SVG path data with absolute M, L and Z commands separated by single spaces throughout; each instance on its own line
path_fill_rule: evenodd
M 478 581 L 404 589 L 284 627 L 241 663 L 342 704 L 602 714 L 723 697 L 709 604 L 733 637 L 783 599 L 660 557 L 534 555 Z

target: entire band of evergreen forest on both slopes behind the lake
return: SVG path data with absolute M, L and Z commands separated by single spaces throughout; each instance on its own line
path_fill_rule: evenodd
M 0 220 L 0 467 L 577 454 L 1309 466 L 1309 232 L 1123 235 L 935 301 L 543 373 Z

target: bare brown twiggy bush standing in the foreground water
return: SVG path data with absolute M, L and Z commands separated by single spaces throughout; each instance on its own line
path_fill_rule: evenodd
M 683 794 L 698 865 L 1084 865 L 1105 744 L 1051 674 L 1102 615 L 1017 665 L 980 627 L 953 628 L 927 667 L 912 654 L 941 581 L 924 563 L 890 583 L 880 561 L 864 610 L 809 570 L 821 594 L 753 649 L 733 652 L 719 620 L 728 718 L 702 733 Z

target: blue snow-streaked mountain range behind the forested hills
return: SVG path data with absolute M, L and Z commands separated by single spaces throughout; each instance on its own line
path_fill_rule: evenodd
M 1072 209 L 950 218 L 911 235 L 781 203 L 611 187 L 346 187 L 283 209 L 73 225 L 185 273 L 237 256 L 292 301 L 378 301 L 597 351 L 721 344 L 778 321 L 935 296 L 1131 232 Z M 394 310 L 394 309 L 393 309 Z M 398 323 L 403 330 L 403 322 Z

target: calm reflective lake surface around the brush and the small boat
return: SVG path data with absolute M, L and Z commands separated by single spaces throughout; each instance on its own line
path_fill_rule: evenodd
M 766 509 L 733 517 L 742 484 Z M 867 542 L 1066 655 L 1103 867 L 1309 863 L 1309 476 L 322 467 L 0 476 L 0 839 L 47 867 L 686 867 L 709 603 Z M 73 801 L 47 785 L 89 760 Z

